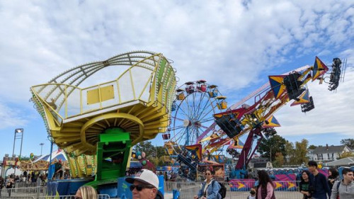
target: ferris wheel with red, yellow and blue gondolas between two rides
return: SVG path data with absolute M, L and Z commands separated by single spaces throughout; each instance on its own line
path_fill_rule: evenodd
M 213 115 L 226 108 L 226 97 L 222 96 L 216 85 L 199 80 L 179 86 L 171 108 L 168 132 L 162 135 L 169 155 L 181 154 L 185 147 L 195 144 L 201 144 L 201 148 L 206 149 L 210 140 L 203 139 L 218 131 Z M 215 154 L 221 151 L 219 149 Z

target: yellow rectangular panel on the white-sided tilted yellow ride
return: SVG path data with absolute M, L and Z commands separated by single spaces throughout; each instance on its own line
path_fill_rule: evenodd
M 101 87 L 99 91 L 101 91 L 101 102 L 114 98 L 113 85 Z M 87 91 L 87 104 L 90 105 L 98 102 L 100 102 L 100 93 L 98 92 L 98 89 Z

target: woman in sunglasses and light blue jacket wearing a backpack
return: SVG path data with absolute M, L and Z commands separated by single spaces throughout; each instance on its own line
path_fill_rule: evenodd
M 194 195 L 194 199 L 219 199 L 220 185 L 212 177 L 213 173 L 210 170 L 205 171 L 205 181 L 202 183 L 198 195 Z

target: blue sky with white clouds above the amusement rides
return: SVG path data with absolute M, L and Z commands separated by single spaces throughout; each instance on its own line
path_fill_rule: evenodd
M 23 156 L 50 152 L 30 86 L 67 69 L 134 50 L 173 60 L 181 85 L 205 79 L 229 104 L 258 89 L 268 75 L 348 59 L 336 92 L 309 83 L 316 108 L 285 106 L 278 134 L 309 144 L 353 138 L 354 2 L 321 1 L 0 1 L 0 157 L 12 154 L 23 128 Z M 107 69 L 85 84 L 115 79 Z M 153 141 L 162 145 L 161 136 Z M 56 148 L 56 147 L 55 147 Z M 16 141 L 15 154 L 20 142 Z

